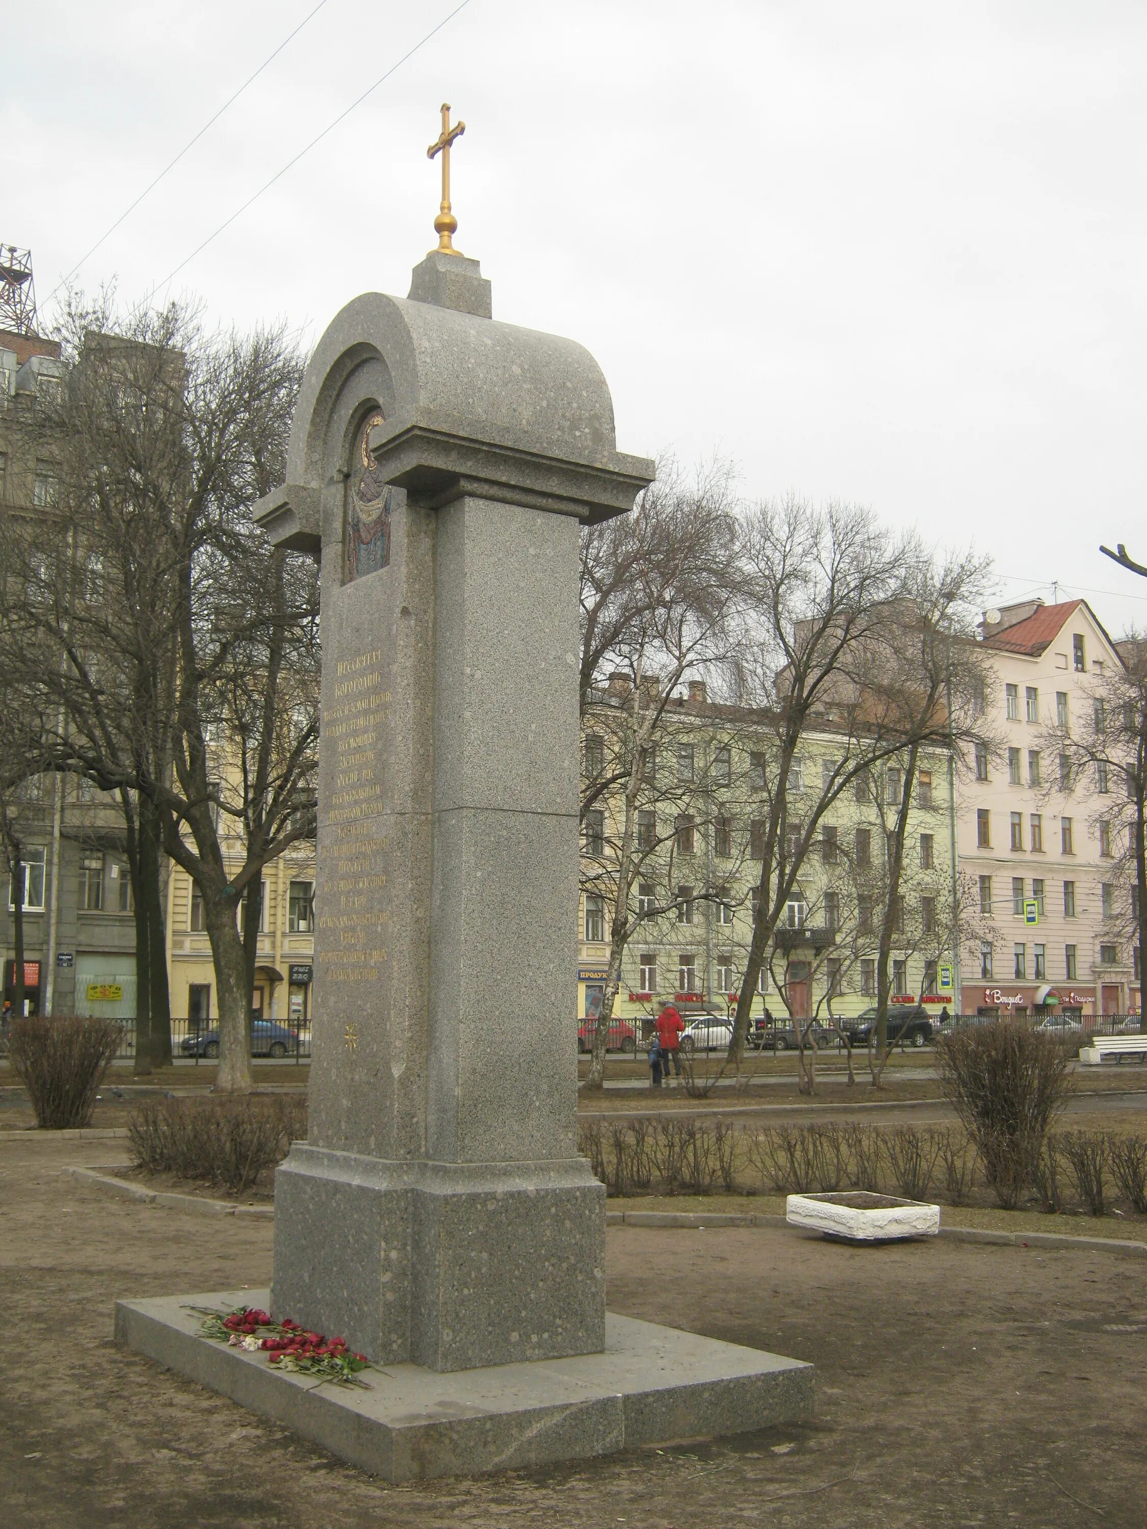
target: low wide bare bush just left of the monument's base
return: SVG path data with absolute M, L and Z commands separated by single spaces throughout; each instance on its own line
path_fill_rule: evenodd
M 243 1194 L 306 1136 L 306 1101 L 292 1096 L 164 1099 L 136 1105 L 127 1121 L 132 1162 Z

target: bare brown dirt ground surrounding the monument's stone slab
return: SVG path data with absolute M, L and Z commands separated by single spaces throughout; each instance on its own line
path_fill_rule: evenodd
M 1141 1260 L 772 1229 L 609 1231 L 615 1310 L 811 1359 L 798 1428 L 387 1486 L 112 1341 L 118 1295 L 271 1275 L 271 1226 L 66 1177 L 115 1142 L 0 1139 L 0 1521 L 12 1529 L 1141 1529 Z

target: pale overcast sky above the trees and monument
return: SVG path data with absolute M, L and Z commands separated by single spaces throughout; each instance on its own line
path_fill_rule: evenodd
M 49 315 L 315 3 L 0 0 L 0 239 Z M 456 3 L 326 0 L 75 283 L 145 295 Z M 312 344 L 405 295 L 444 99 L 459 249 L 497 318 L 593 352 L 621 450 L 870 505 L 989 550 L 1000 598 L 1058 579 L 1147 625 L 1098 552 L 1147 561 L 1141 0 L 470 0 L 159 297 Z

